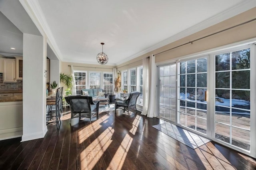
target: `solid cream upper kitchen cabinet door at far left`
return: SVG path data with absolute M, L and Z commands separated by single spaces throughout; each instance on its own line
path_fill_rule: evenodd
M 15 59 L 4 59 L 4 83 L 15 83 L 16 82 L 16 72 L 15 72 Z

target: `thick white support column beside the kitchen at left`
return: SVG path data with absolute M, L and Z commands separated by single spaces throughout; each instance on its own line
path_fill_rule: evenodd
M 22 142 L 43 138 L 46 126 L 46 38 L 23 34 Z

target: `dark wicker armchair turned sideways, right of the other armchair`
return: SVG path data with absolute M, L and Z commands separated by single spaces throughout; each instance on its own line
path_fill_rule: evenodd
M 119 107 L 122 107 L 122 109 L 124 111 L 127 111 L 128 114 L 130 115 L 129 113 L 130 109 L 136 109 L 136 101 L 139 96 L 140 96 L 140 92 L 131 92 L 127 99 L 124 99 L 124 100 L 115 99 L 115 113 L 116 113 L 116 109 L 118 109 Z

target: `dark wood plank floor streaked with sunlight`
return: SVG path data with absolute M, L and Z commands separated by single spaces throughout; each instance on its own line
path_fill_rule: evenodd
M 0 169 L 256 169 L 256 160 L 215 142 L 193 150 L 151 127 L 157 118 L 100 113 L 90 123 L 64 110 L 44 138 L 0 141 Z

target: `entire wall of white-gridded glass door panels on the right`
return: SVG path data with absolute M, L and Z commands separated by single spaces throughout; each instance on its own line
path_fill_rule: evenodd
M 158 116 L 253 155 L 256 119 L 250 101 L 255 93 L 251 67 L 255 47 L 218 49 L 207 56 L 159 65 Z

